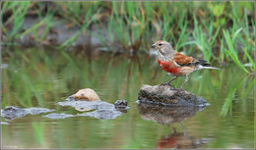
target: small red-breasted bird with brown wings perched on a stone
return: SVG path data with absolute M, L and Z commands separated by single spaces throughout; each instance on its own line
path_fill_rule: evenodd
M 185 82 L 179 88 L 182 89 L 184 84 L 188 81 L 188 75 L 190 73 L 203 69 L 220 70 L 218 68 L 211 67 L 211 65 L 205 60 L 195 59 L 193 57 L 180 54 L 166 41 L 159 40 L 152 45 L 152 48 L 158 50 L 160 68 L 165 71 L 167 75 L 174 76 L 174 78 L 165 83 L 161 83 L 161 85 L 169 85 L 169 83 L 178 76 L 185 76 Z

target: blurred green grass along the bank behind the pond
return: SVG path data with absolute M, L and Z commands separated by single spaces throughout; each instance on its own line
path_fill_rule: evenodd
M 47 43 L 52 27 L 80 29 L 56 45 L 71 47 L 80 35 L 96 37 L 106 50 L 148 51 L 157 40 L 209 62 L 233 62 L 254 74 L 255 8 L 253 2 L 2 2 L 3 45 L 17 45 L 32 34 Z M 26 17 L 38 22 L 23 27 Z M 93 31 L 92 28 L 96 28 Z M 202 56 L 200 56 L 202 54 Z

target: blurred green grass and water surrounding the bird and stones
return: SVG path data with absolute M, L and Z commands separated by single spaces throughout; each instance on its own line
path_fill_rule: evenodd
M 3 145 L 156 148 L 173 126 L 181 132 L 178 124 L 142 119 L 135 102 L 142 84 L 170 79 L 151 55 L 152 43 L 163 39 L 221 68 L 195 72 L 184 86 L 211 104 L 182 122 L 187 136 L 205 141 L 196 147 L 255 148 L 254 12 L 254 2 L 234 1 L 1 1 L 1 109 L 45 107 L 75 115 L 77 110 L 56 103 L 87 87 L 102 101 L 125 99 L 130 106 L 108 121 L 15 119 L 1 125 Z

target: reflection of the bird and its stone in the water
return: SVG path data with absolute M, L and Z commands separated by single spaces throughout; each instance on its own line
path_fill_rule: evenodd
M 160 125 L 178 123 L 182 127 L 181 132 L 172 128 L 172 133 L 162 135 L 157 141 L 156 148 L 197 148 L 209 141 L 209 138 L 195 138 L 186 133 L 181 122 L 195 116 L 196 112 L 203 111 L 204 107 L 173 107 L 148 102 L 138 102 L 138 110 L 143 120 L 153 121 Z

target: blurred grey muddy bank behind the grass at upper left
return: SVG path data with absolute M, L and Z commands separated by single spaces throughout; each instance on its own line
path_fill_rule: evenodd
M 37 18 L 33 17 L 26 17 L 24 24 L 22 24 L 20 31 L 28 30 L 32 27 L 32 25 L 36 25 L 40 23 L 41 21 Z M 27 34 L 21 36 L 20 38 L 15 39 L 16 43 L 19 43 L 24 46 L 38 46 L 38 45 L 55 45 L 59 46 L 63 44 L 66 40 L 70 39 L 73 35 L 75 35 L 77 32 L 81 32 L 81 27 L 78 25 L 69 26 L 68 23 L 63 25 L 62 21 L 54 21 L 53 26 L 49 28 L 49 30 L 46 32 L 46 34 L 43 32 L 45 30 L 45 25 L 41 25 L 37 28 L 37 36 L 41 37 L 44 36 L 42 40 L 36 39 L 38 37 L 34 36 L 33 32 L 28 32 Z M 8 31 L 12 31 L 12 28 Z M 103 45 L 102 42 L 97 39 L 93 34 L 102 34 L 102 38 L 104 39 L 105 43 L 109 43 L 109 45 Z M 116 40 L 116 37 L 114 37 L 114 41 Z M 3 35 L 2 36 L 3 41 L 5 42 L 7 39 Z M 89 45 L 90 47 L 105 47 L 105 46 L 113 46 L 110 45 L 109 37 L 107 36 L 107 30 L 103 28 L 96 28 L 96 26 L 90 26 L 90 28 L 83 31 L 81 34 L 78 35 L 78 37 L 75 39 L 75 41 L 72 43 L 72 45 L 68 46 L 84 46 Z M 115 47 L 118 45 L 115 45 Z M 118 46 L 121 47 L 120 45 Z

